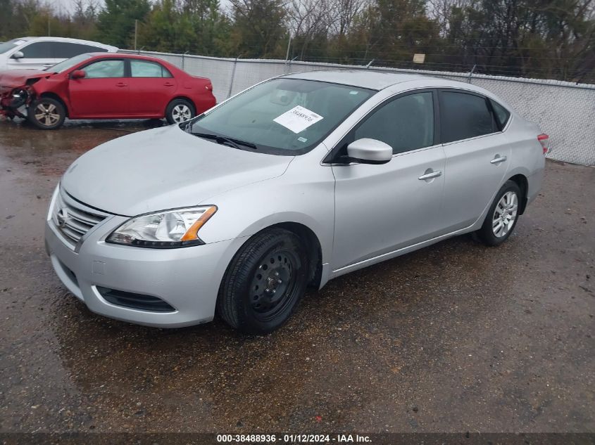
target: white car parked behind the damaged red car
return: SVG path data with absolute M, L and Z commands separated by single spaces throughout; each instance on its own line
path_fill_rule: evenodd
M 0 70 L 45 70 L 83 53 L 115 53 L 118 48 L 65 37 L 20 37 L 0 44 Z

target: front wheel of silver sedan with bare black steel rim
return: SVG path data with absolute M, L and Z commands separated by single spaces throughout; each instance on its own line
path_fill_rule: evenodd
M 235 254 L 221 283 L 217 311 L 244 333 L 270 333 L 289 319 L 307 284 L 308 255 L 301 238 L 269 229 Z

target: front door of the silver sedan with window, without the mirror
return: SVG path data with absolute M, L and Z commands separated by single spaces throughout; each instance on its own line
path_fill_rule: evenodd
M 380 105 L 342 141 L 389 144 L 384 165 L 333 165 L 335 226 L 332 269 L 429 240 L 441 233 L 444 150 L 437 138 L 431 90 L 405 93 Z

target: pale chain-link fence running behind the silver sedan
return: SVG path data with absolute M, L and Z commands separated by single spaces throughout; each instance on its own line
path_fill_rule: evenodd
M 153 51 L 136 52 L 167 60 L 191 75 L 208 77 L 213 82 L 213 93 L 218 101 L 223 101 L 270 77 L 313 70 L 374 69 L 387 72 L 414 72 L 469 82 L 493 91 L 511 104 L 520 115 L 539 124 L 541 130 L 550 136 L 548 157 L 551 159 L 595 165 L 595 85 L 591 84 L 293 60 L 214 58 Z

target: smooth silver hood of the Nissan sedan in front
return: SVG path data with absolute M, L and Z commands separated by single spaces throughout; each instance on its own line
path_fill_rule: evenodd
M 280 176 L 292 160 L 222 146 L 173 125 L 90 150 L 68 168 L 61 186 L 89 206 L 132 217 L 216 204 L 209 201 L 215 195 Z

